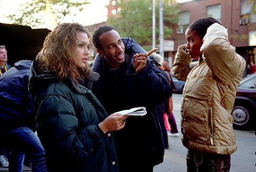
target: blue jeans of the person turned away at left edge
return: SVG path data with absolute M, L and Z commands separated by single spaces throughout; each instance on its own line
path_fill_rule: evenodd
M 4 138 L 1 145 L 11 147 L 12 154 L 9 160 L 9 171 L 22 171 L 24 157 L 32 161 L 32 171 L 46 171 L 44 148 L 29 127 L 16 128 L 4 133 L 0 133 Z

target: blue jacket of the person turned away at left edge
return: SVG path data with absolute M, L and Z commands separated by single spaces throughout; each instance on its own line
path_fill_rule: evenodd
M 34 101 L 27 88 L 32 61 L 22 60 L 0 77 L 0 132 L 34 127 Z

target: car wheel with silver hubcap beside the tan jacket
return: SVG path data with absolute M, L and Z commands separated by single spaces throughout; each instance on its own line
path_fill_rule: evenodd
M 234 122 L 233 127 L 235 129 L 248 129 L 251 123 L 251 109 L 245 104 L 235 104 L 231 112 Z

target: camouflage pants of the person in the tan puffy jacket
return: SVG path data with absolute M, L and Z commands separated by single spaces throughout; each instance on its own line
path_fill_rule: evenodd
M 229 172 L 230 155 L 207 154 L 187 150 L 187 172 Z

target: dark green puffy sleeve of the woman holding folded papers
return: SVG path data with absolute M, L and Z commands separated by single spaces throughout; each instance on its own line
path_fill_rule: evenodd
M 81 128 L 77 115 L 71 102 L 63 97 L 44 98 L 37 112 L 37 131 L 47 149 L 62 152 L 73 160 L 82 160 L 93 149 L 104 146 L 98 123 Z

